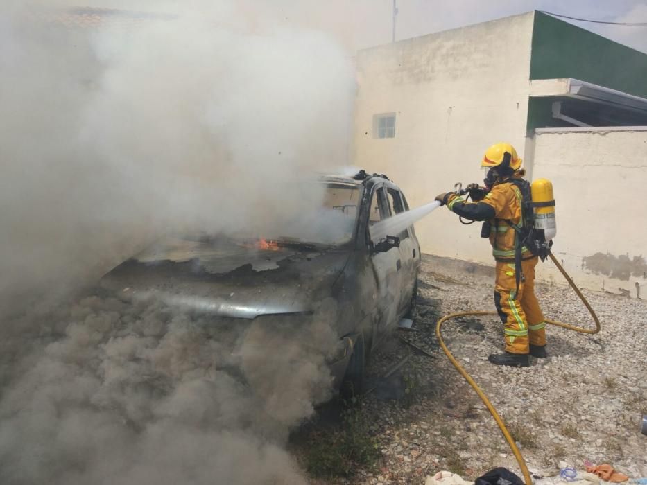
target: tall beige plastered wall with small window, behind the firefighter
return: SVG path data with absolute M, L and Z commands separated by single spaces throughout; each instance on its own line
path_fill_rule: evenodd
M 530 13 L 360 51 L 354 164 L 386 173 L 417 206 L 455 182 L 481 182 L 492 143 L 523 155 L 532 29 Z M 374 138 L 373 115 L 389 112 L 395 138 Z M 492 262 L 480 224 L 443 208 L 415 227 L 426 253 Z

